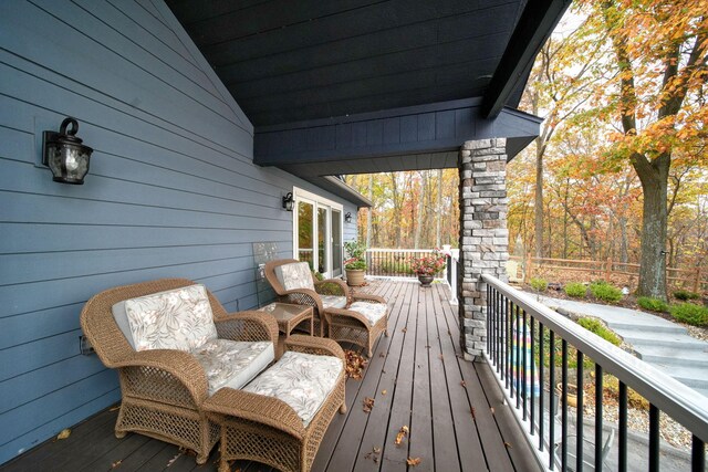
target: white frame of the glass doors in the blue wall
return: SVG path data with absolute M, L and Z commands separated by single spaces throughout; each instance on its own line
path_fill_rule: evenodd
M 314 214 L 313 214 L 313 222 L 312 222 L 312 231 L 313 231 L 313 241 L 315 241 L 315 248 L 313 248 L 313 262 L 312 265 L 316 269 L 319 266 L 319 259 L 320 259 L 320 252 L 317 251 L 316 248 L 316 242 L 317 242 L 317 237 L 319 237 L 319 213 L 317 210 L 320 208 L 325 208 L 326 209 L 326 220 L 327 220 L 327 228 L 325 231 L 325 240 L 327 241 L 327 243 L 324 245 L 324 251 L 325 251 L 325 259 L 327 261 L 327 266 L 325 268 L 325 272 L 322 274 L 325 277 L 330 277 L 332 275 L 332 271 L 333 271 L 333 262 L 332 262 L 332 209 L 340 211 L 340 237 L 341 237 L 341 241 L 340 241 L 340 245 L 343 247 L 344 244 L 344 206 L 342 203 L 337 203 L 334 200 L 330 200 L 329 198 L 322 197 L 317 193 L 313 193 L 311 191 L 301 189 L 299 187 L 293 187 L 292 188 L 292 196 L 293 196 L 293 216 L 292 216 L 292 254 L 294 259 L 298 259 L 298 251 L 299 251 L 299 231 L 298 231 L 298 218 L 299 218 L 299 213 L 298 213 L 298 203 L 300 200 L 302 201 L 306 201 L 308 203 L 312 203 L 314 202 Z

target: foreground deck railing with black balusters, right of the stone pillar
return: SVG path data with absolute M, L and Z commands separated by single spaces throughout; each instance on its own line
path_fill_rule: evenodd
M 602 470 L 602 445 L 606 440 L 603 432 L 603 374 L 610 374 L 618 380 L 618 470 L 628 469 L 627 389 L 631 388 L 649 402 L 648 470 L 659 470 L 659 412 L 664 412 L 690 431 L 691 470 L 705 471 L 705 441 L 708 440 L 706 397 L 552 312 L 530 295 L 492 276 L 482 275 L 482 279 L 487 283 L 488 342 L 485 356 L 531 443 L 538 444 L 539 458 L 548 469 L 582 471 L 583 452 L 587 451 L 584 443 L 589 439 L 594 443 L 594 470 Z M 573 352 L 575 358 L 570 359 Z M 577 379 L 574 450 L 569 449 L 571 360 L 576 363 Z M 592 381 L 595 384 L 594 432 L 593 438 L 587 439 L 583 434 L 584 365 L 594 370 Z M 556 381 L 560 382 L 558 394 Z M 550 412 L 554 405 L 558 405 L 560 416 Z M 556 428 L 560 428 L 560 434 Z M 572 457 L 575 458 L 573 463 Z

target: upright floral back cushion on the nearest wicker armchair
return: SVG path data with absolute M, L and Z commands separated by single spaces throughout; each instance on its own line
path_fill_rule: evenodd
M 190 352 L 217 337 L 204 285 L 126 300 L 125 312 L 135 350 Z

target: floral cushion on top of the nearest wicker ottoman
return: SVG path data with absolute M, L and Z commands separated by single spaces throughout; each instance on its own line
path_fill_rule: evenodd
M 243 390 L 284 401 L 306 427 L 336 385 L 342 369 L 337 357 L 289 350 Z

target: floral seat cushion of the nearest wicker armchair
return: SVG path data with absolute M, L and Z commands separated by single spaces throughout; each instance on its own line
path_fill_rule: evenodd
M 190 352 L 204 367 L 209 395 L 221 387 L 241 388 L 275 358 L 273 343 L 211 339 Z

